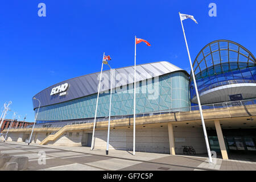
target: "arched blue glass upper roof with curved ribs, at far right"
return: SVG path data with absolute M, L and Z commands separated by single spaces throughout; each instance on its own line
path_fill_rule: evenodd
M 223 65 L 228 65 L 228 68 L 222 69 Z M 236 42 L 216 40 L 201 49 L 193 63 L 193 70 L 196 78 L 203 78 L 212 76 L 211 73 L 218 75 L 230 72 L 233 65 L 237 65 L 236 69 L 245 65 L 255 67 L 256 59 L 248 49 Z

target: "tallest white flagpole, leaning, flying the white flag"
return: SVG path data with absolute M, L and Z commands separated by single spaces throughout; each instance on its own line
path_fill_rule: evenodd
M 179 12 L 179 15 L 180 15 L 180 12 Z M 187 43 L 187 39 L 186 39 L 186 35 L 185 35 L 185 31 L 184 31 L 184 27 L 183 27 L 183 23 L 182 23 L 181 18 L 180 18 L 180 22 L 181 22 L 181 26 L 182 26 L 182 30 L 183 30 L 183 34 L 184 34 L 184 38 L 185 38 L 185 43 L 186 43 L 186 46 L 187 46 L 188 58 L 189 58 L 190 66 L 191 66 L 191 72 L 192 72 L 192 76 L 193 76 L 193 81 L 195 83 L 196 97 L 197 97 L 197 102 L 198 102 L 198 105 L 199 105 L 199 110 L 200 110 L 203 130 L 204 130 L 205 143 L 207 145 L 207 152 L 208 152 L 208 156 L 209 156 L 209 163 L 212 163 L 212 155 L 210 154 L 210 147 L 209 147 L 209 142 L 208 142 L 208 137 L 207 137 L 207 131 L 206 131 L 206 128 L 205 128 L 205 123 L 204 123 L 204 117 L 203 117 L 203 111 L 202 111 L 202 107 L 201 107 L 201 102 L 200 102 L 200 98 L 199 98 L 199 94 L 198 94 L 198 90 L 197 90 L 195 73 L 193 71 L 193 65 L 192 65 L 192 62 L 191 62 L 191 57 L 190 57 L 190 53 L 189 53 L 189 49 L 188 49 L 188 43 Z

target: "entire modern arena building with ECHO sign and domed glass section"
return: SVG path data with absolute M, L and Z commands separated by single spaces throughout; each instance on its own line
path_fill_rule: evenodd
M 253 54 L 230 40 L 207 44 L 193 62 L 210 149 L 224 159 L 256 155 L 255 66 Z M 135 150 L 175 155 L 193 146 L 207 153 L 192 75 L 166 61 L 136 69 Z M 134 66 L 114 69 L 109 149 L 133 150 L 133 76 Z M 71 78 L 36 94 L 31 143 L 91 146 L 99 77 Z M 104 71 L 94 134 L 100 150 L 106 149 L 109 101 L 110 71 Z M 11 129 L 7 140 L 24 142 L 31 127 Z

